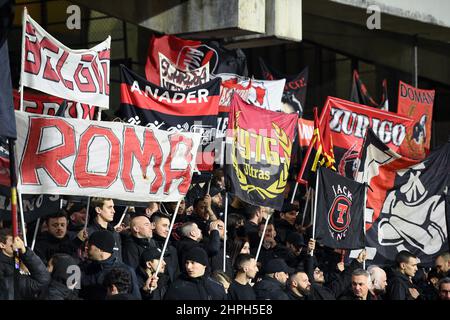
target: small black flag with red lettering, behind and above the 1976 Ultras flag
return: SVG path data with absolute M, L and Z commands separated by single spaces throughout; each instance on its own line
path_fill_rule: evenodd
M 308 85 L 308 67 L 295 75 L 281 74 L 273 68 L 269 68 L 262 58 L 259 58 L 259 65 L 263 77 L 267 80 L 286 79 L 281 101 L 282 111 L 286 113 L 297 112 L 299 117 L 303 116 L 306 100 L 306 89 Z

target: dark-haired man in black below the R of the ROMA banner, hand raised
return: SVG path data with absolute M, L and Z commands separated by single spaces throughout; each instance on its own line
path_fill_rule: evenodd
M 78 249 L 86 240 L 86 234 L 81 230 L 71 239 L 67 232 L 68 218 L 64 211 L 57 211 L 45 218 L 47 231 L 36 237 L 34 252 L 47 264 L 56 253 L 65 253 L 78 259 Z

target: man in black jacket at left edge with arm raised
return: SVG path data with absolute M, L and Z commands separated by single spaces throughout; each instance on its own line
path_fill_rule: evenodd
M 0 300 L 36 299 L 50 283 L 50 274 L 41 259 L 25 247 L 22 239 L 13 240 L 9 229 L 0 229 Z M 14 250 L 19 250 L 20 260 L 28 269 L 28 275 L 18 277 L 19 292 L 14 292 Z

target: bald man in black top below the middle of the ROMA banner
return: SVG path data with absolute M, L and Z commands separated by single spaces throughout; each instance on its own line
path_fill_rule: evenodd
M 139 259 L 142 252 L 149 247 L 156 247 L 156 242 L 152 239 L 154 224 L 147 216 L 133 216 L 130 220 L 131 234 L 124 237 L 122 246 L 123 262 L 131 268 L 139 266 Z

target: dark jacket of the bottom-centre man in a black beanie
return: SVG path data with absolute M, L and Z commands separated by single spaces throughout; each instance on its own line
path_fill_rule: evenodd
M 164 300 L 227 300 L 222 284 L 208 276 L 191 278 L 186 274 L 169 286 Z

